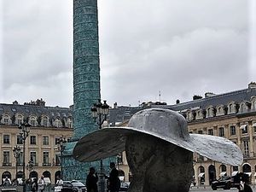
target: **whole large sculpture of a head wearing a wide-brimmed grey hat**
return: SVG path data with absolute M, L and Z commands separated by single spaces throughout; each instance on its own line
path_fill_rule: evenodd
M 181 114 L 162 108 L 135 113 L 127 127 L 91 132 L 79 140 L 73 156 L 94 161 L 123 151 L 133 176 L 130 192 L 188 192 L 192 152 L 231 166 L 242 162 L 235 143 L 224 137 L 189 134 Z

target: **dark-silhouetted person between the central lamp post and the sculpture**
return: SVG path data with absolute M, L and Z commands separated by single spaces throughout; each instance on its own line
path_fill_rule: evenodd
M 119 179 L 119 171 L 116 169 L 114 162 L 110 163 L 111 171 L 108 177 L 108 190 L 110 192 L 119 192 L 120 189 L 120 179 Z

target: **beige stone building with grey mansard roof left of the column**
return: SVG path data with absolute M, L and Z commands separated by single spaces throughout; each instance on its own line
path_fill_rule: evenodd
M 36 102 L 0 104 L 0 177 L 21 179 L 23 171 L 23 143 L 20 139 L 19 125 L 27 122 L 32 125 L 26 138 L 25 163 L 26 178 L 48 177 L 55 183 L 56 175 L 61 173 L 61 152 L 57 143 L 61 137 L 73 136 L 73 109 L 45 107 L 41 99 Z M 15 159 L 13 149 L 20 147 L 20 157 Z M 28 168 L 28 162 L 32 166 Z M 17 168 L 17 170 L 16 170 Z M 18 179 L 18 180 L 20 180 Z M 2 182 L 1 182 L 2 183 Z

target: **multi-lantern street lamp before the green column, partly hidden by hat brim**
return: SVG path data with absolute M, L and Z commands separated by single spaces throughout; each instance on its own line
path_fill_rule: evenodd
M 94 121 L 96 125 L 99 126 L 99 129 L 102 129 L 102 124 L 105 120 L 108 118 L 108 112 L 109 112 L 109 106 L 107 104 L 107 101 L 101 102 L 101 100 L 98 100 L 98 103 L 94 103 L 93 107 L 90 109 L 92 113 L 92 117 L 94 118 Z M 103 176 L 103 162 L 100 160 L 100 192 L 105 191 L 105 179 Z

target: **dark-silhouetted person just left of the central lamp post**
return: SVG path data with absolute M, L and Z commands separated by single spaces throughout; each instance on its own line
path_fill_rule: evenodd
M 98 192 L 97 182 L 99 180 L 98 174 L 94 167 L 90 167 L 88 176 L 86 177 L 86 188 L 88 192 Z

